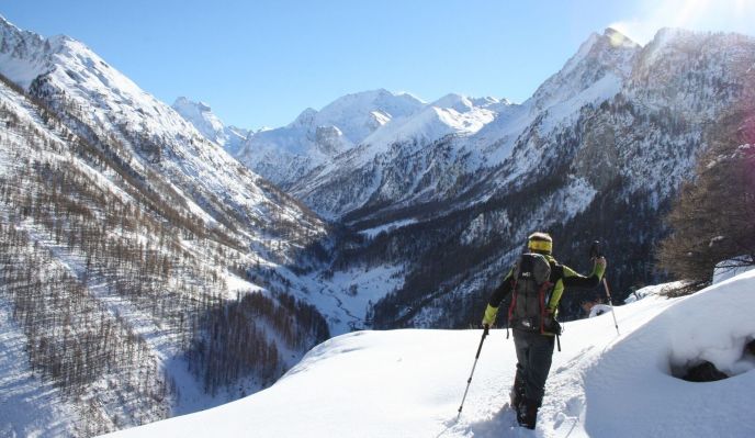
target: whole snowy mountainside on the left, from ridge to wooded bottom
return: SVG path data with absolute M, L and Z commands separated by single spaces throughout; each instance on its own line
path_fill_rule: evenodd
M 315 214 L 80 42 L 0 38 L 0 404 L 41 413 L 3 408 L 0 435 L 217 405 L 328 336 L 284 267 L 316 262 Z

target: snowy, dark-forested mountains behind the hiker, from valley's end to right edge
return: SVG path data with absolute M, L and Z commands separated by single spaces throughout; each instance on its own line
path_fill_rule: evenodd
M 399 267 L 364 314 L 380 327 L 469 324 L 533 229 L 559 235 L 560 257 L 577 268 L 591 240 L 608 240 L 623 297 L 663 280 L 652 254 L 663 215 L 755 83 L 753 65 L 744 35 L 664 29 L 640 46 L 607 29 L 521 104 L 449 94 L 398 115 L 385 101 L 406 94 L 358 93 L 250 136 L 237 158 L 360 233 L 341 244 L 336 278 Z M 391 116 L 358 117 L 373 131 L 352 134 L 331 115 L 350 103 Z M 585 297 L 567 297 L 565 314 Z

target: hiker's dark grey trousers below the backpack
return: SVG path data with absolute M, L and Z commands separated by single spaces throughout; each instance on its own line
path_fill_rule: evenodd
M 537 332 L 514 330 L 514 346 L 517 349 L 517 377 L 523 383 L 525 398 L 537 406 L 545 394 L 545 380 L 551 371 L 553 336 Z

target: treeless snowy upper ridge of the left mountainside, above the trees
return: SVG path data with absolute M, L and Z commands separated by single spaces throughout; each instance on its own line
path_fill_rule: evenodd
M 82 43 L 66 36 L 44 40 L 4 20 L 0 32 L 0 56 L 7 60 L 0 74 L 26 86 L 88 141 L 105 143 L 103 147 L 109 147 L 109 138 L 120 142 L 125 149 L 109 153 L 120 155 L 136 172 L 154 170 L 167 178 L 204 221 L 228 226 L 230 217 L 258 244 L 269 236 L 248 226 L 279 227 L 271 217 L 274 211 L 292 225 L 302 218 L 317 222 L 293 200 L 283 202 L 282 193 Z M 30 71 L 40 75 L 31 82 Z

